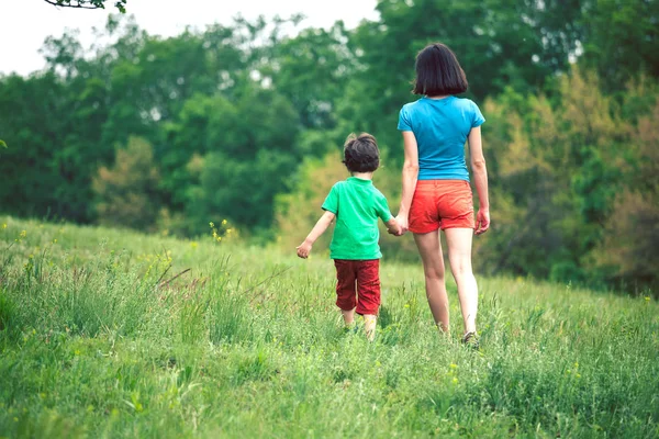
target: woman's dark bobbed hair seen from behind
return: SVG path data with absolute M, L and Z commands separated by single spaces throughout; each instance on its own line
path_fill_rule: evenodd
M 414 94 L 428 97 L 459 94 L 469 83 L 465 70 L 450 48 L 442 43 L 429 44 L 416 55 Z

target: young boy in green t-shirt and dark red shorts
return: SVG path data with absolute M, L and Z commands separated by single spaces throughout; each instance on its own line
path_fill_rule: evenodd
M 379 262 L 382 254 L 378 245 L 378 217 L 390 234 L 399 235 L 400 227 L 389 211 L 387 199 L 371 181 L 380 166 L 376 138 L 366 133 L 350 134 L 344 145 L 343 162 L 351 177 L 334 184 L 322 206 L 325 213 L 298 247 L 298 256 L 306 259 L 315 240 L 336 218 L 330 245 L 330 257 L 336 267 L 336 305 L 346 327 L 353 326 L 355 312 L 362 315 L 364 329 L 372 340 L 380 306 Z

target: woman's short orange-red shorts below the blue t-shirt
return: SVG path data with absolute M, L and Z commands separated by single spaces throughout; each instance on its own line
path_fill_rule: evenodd
M 410 232 L 474 228 L 471 187 L 465 180 L 418 180 L 410 206 Z

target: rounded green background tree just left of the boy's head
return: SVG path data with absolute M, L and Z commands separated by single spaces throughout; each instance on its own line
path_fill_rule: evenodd
M 299 166 L 295 109 L 276 90 L 246 83 L 233 102 L 200 98 L 187 110 L 192 131 L 181 136 L 181 148 L 209 151 L 199 183 L 187 184 L 188 215 L 199 226 L 230 218 L 242 229 L 270 227 L 275 196 Z

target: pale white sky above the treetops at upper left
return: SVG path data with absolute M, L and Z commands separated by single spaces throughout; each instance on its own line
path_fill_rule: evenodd
M 149 34 L 172 36 L 187 25 L 204 29 L 212 23 L 230 24 L 237 14 L 254 19 L 261 14 L 288 18 L 303 13 L 306 20 L 300 29 L 328 27 L 337 20 L 355 27 L 364 19 L 377 19 L 376 3 L 377 0 L 129 0 L 126 9 Z M 82 46 L 89 47 L 93 42 L 91 29 L 103 29 L 109 13 L 116 13 L 116 9 L 81 10 L 56 8 L 43 0 L 0 0 L 0 74 L 29 75 L 42 69 L 45 61 L 40 47 L 47 36 L 62 36 L 65 29 L 78 29 Z

